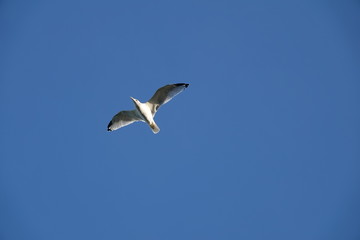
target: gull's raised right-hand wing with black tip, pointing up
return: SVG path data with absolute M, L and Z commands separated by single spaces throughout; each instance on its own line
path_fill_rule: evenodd
M 166 85 L 164 87 L 159 88 L 154 96 L 146 103 L 151 110 L 151 113 L 155 115 L 159 107 L 168 101 L 170 101 L 173 97 L 184 91 L 189 84 L 187 83 L 176 83 Z

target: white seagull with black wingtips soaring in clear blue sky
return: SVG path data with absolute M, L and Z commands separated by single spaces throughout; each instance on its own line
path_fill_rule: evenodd
M 156 112 L 161 105 L 169 102 L 176 95 L 184 91 L 189 86 L 188 83 L 169 84 L 159 88 L 155 94 L 146 103 L 142 103 L 136 98 L 130 97 L 135 104 L 135 109 L 130 111 L 121 111 L 116 114 L 108 125 L 108 131 L 125 127 L 133 122 L 146 122 L 154 134 L 160 131 L 160 128 L 154 121 Z

